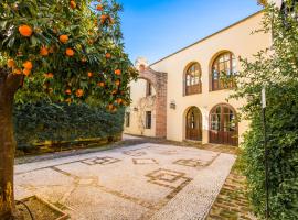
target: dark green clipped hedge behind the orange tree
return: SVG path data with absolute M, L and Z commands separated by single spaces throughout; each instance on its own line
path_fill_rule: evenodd
M 108 112 L 87 105 L 49 102 L 19 105 L 14 109 L 19 148 L 44 141 L 109 138 L 123 132 L 124 109 Z

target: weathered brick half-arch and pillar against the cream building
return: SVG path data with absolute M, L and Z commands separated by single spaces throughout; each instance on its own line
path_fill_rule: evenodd
M 167 138 L 167 84 L 168 74 L 150 67 L 139 68 L 139 78 L 148 80 L 156 89 L 156 136 Z

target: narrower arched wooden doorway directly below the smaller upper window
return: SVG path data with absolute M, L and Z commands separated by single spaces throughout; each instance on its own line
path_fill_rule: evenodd
M 192 141 L 202 141 L 202 113 L 196 107 L 189 109 L 185 121 L 185 138 Z

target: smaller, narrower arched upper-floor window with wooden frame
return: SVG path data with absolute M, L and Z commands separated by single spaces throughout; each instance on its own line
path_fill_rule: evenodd
M 185 73 L 185 96 L 202 92 L 202 73 L 200 64 L 192 64 Z

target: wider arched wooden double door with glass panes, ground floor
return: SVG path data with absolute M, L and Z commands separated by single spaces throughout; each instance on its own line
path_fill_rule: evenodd
M 238 145 L 236 112 L 228 105 L 217 105 L 210 113 L 210 143 Z

